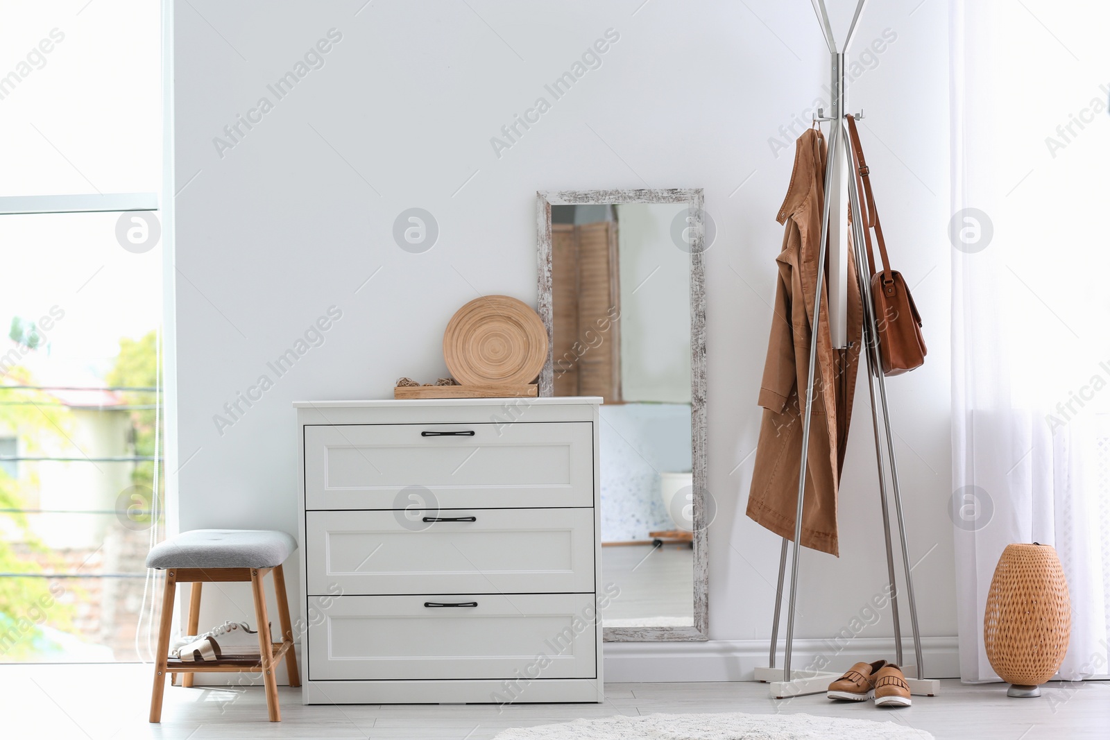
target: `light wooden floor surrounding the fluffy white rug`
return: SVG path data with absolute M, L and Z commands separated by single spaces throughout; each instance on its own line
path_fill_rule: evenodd
M 1052 683 L 1040 699 L 1007 699 L 1001 685 L 944 681 L 909 709 L 824 697 L 767 699 L 759 683 L 610 683 L 604 704 L 305 707 L 282 688 L 281 723 L 265 721 L 261 688 L 167 690 L 161 726 L 147 722 L 150 669 L 141 665 L 0 666 L 0 737 L 12 738 L 453 738 L 482 740 L 506 727 L 577 717 L 652 712 L 807 712 L 890 720 L 938 739 L 1041 740 L 1110 737 L 1110 682 Z

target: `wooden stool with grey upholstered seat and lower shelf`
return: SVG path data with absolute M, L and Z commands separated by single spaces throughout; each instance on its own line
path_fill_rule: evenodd
M 289 685 L 301 686 L 293 652 L 293 627 L 289 619 L 289 597 L 282 562 L 296 549 L 296 540 L 283 531 L 262 529 L 194 529 L 155 545 L 147 556 L 147 567 L 165 570 L 165 595 L 162 598 L 162 620 L 158 631 L 158 653 L 154 656 L 154 690 L 150 699 L 150 721 L 162 719 L 162 696 L 167 673 L 183 673 L 182 686 L 193 685 L 194 672 L 260 672 L 266 688 L 270 721 L 281 721 L 278 704 L 278 679 L 274 671 L 282 658 L 289 671 Z M 270 618 L 262 578 L 273 572 L 281 642 L 271 642 Z M 173 598 L 178 584 L 192 584 L 189 595 L 189 635 L 196 635 L 201 609 L 201 584 L 250 581 L 254 592 L 254 616 L 258 620 L 261 659 L 255 661 L 221 658 L 204 662 L 183 662 L 170 658 L 170 628 L 173 622 Z

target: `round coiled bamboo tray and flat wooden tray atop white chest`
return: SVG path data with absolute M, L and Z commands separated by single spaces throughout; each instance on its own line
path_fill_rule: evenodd
M 534 397 L 547 359 L 547 330 L 527 304 L 507 295 L 475 298 L 443 333 L 443 358 L 458 385 L 411 385 L 394 398 Z

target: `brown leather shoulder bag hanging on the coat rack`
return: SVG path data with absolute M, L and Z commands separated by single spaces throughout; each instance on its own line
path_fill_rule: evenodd
M 921 315 L 917 312 L 914 296 L 910 295 L 906 280 L 897 270 L 890 268 L 887 256 L 887 243 L 882 237 L 882 226 L 879 214 L 875 210 L 875 194 L 871 192 L 870 171 L 864 159 L 864 148 L 859 143 L 859 132 L 856 130 L 856 119 L 848 118 L 848 133 L 856 159 L 856 187 L 859 191 L 859 206 L 862 213 L 864 234 L 867 243 L 867 261 L 871 275 L 871 300 L 875 302 L 875 321 L 879 328 L 879 356 L 882 361 L 884 375 L 901 375 L 925 363 L 928 349 L 925 337 L 921 336 Z M 879 244 L 879 256 L 882 259 L 882 271 L 875 271 L 875 254 L 871 249 L 871 229 Z

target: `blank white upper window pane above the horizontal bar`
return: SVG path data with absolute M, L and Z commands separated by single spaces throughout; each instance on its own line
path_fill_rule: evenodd
M 158 192 L 160 4 L 3 3 L 0 196 Z

